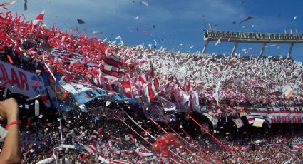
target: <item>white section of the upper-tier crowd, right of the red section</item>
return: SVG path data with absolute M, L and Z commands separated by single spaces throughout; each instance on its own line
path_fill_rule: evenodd
M 132 58 L 155 63 L 157 71 L 168 78 L 175 75 L 202 84 L 200 100 L 215 103 L 212 97 L 220 82 L 220 103 L 229 106 L 299 106 L 303 103 L 302 63 L 285 58 L 245 58 L 243 56 L 205 56 L 190 53 L 152 51 Z M 141 65 L 140 68 L 147 68 Z M 166 75 L 166 76 L 165 76 Z M 275 86 L 293 87 L 292 98 L 285 98 Z

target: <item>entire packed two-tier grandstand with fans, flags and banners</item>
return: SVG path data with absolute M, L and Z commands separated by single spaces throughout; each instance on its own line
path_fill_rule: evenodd
M 298 61 L 124 46 L 0 16 L 1 99 L 19 101 L 24 163 L 303 161 Z

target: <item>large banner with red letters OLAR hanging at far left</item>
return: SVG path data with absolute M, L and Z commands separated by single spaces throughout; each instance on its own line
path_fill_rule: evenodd
M 29 98 L 35 98 L 40 95 L 39 98 L 45 106 L 51 106 L 43 78 L 35 73 L 24 71 L 9 63 L 0 61 L 0 82 L 0 86 L 8 89 L 11 93 L 21 94 Z

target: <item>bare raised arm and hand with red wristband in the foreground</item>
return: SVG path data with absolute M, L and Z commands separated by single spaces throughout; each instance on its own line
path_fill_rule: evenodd
M 0 163 L 20 163 L 19 107 L 14 98 L 0 102 L 0 120 L 6 120 L 6 135 Z

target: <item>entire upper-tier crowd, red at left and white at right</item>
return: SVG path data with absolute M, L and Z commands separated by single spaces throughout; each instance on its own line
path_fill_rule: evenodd
M 194 53 L 180 53 L 123 46 L 122 43 L 105 43 L 97 38 L 88 38 L 78 32 L 64 33 L 54 26 L 44 29 L 25 24 L 1 13 L 1 56 L 4 61 L 34 71 L 48 63 L 56 73 L 65 76 L 66 81 L 92 83 L 98 78 L 98 66 L 106 50 L 117 53 L 124 63 L 130 79 L 140 71 L 150 70 L 153 63 L 161 83 L 167 83 L 175 75 L 183 83 L 185 78 L 199 92 L 202 104 L 224 103 L 227 106 L 299 106 L 303 104 L 303 65 L 286 58 L 217 56 Z M 19 31 L 17 31 L 19 30 Z M 73 31 L 73 30 L 72 30 Z M 7 34 L 7 35 L 6 35 Z M 51 48 L 64 50 L 65 57 L 56 58 L 49 53 Z M 77 54 L 77 55 L 75 55 Z M 68 56 L 66 56 L 68 55 Z M 80 57 L 79 57 L 80 56 Z M 64 58 L 74 59 L 66 63 Z M 284 86 L 292 87 L 292 96 L 285 98 Z M 213 94 L 218 88 L 219 99 Z

